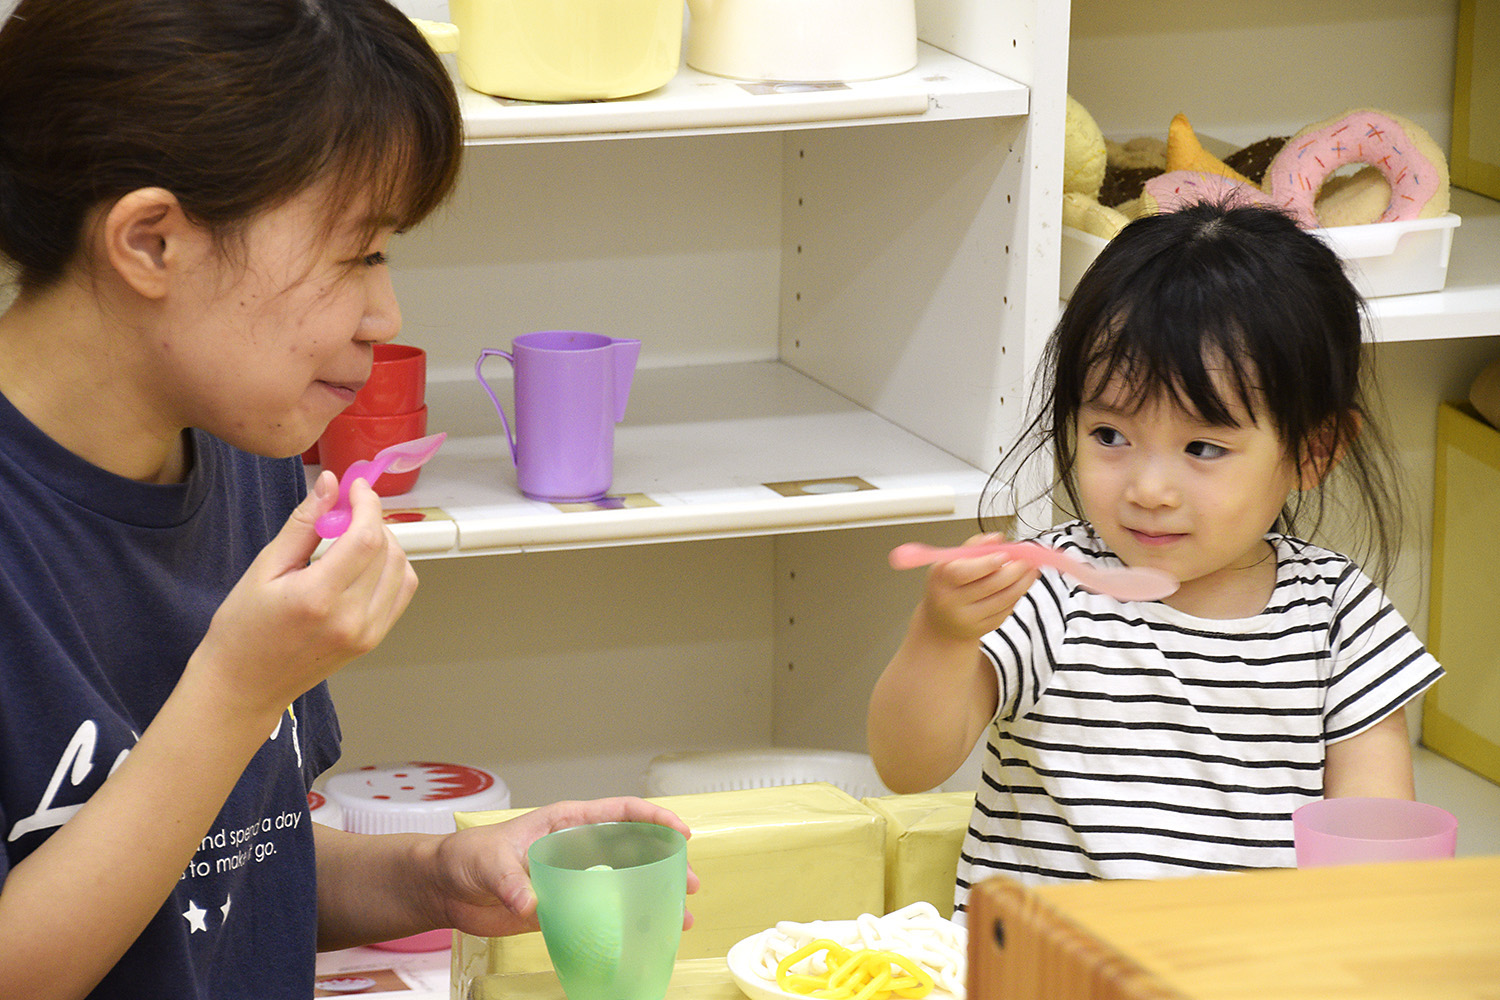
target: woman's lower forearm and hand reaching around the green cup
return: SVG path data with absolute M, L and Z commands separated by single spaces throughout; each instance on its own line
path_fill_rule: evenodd
M 315 826 L 318 948 L 446 927 L 477 937 L 534 931 L 537 900 L 526 876 L 526 849 L 552 831 L 616 820 L 662 823 L 690 835 L 674 813 L 634 798 L 556 802 L 506 823 L 448 835 L 345 834 Z M 687 891 L 698 891 L 692 870 Z

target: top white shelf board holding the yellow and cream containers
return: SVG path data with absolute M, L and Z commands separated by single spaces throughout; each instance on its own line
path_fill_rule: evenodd
M 666 85 L 618 100 L 532 103 L 490 97 L 456 82 L 470 142 L 1016 117 L 1030 106 L 1023 84 L 926 42 L 918 43 L 916 66 L 906 73 L 834 85 L 724 79 L 687 63 Z

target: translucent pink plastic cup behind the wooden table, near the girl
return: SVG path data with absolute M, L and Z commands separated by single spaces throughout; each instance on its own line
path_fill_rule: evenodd
M 1298 868 L 1452 858 L 1458 820 L 1408 799 L 1320 799 L 1292 814 Z

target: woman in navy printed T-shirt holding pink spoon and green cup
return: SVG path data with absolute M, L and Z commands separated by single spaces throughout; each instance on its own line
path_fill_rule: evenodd
M 0 28 L 0 997 L 308 997 L 316 945 L 536 927 L 561 804 L 314 828 L 326 678 L 416 588 L 296 457 L 400 318 L 392 235 L 462 148 L 384 0 L 22 0 Z M 304 496 L 306 495 L 306 496 Z

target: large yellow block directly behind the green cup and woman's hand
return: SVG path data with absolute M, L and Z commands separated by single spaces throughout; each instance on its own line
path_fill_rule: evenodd
M 687 822 L 687 862 L 702 888 L 678 958 L 722 958 L 777 921 L 846 921 L 885 901 L 885 820 L 831 784 L 651 799 Z M 458 813 L 459 829 L 525 813 Z M 540 934 L 458 936 L 453 981 L 550 969 Z

